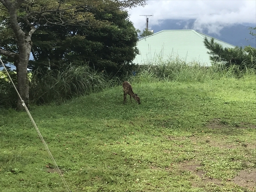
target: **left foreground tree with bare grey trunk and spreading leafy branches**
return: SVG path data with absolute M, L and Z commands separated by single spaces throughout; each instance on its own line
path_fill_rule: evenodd
M 90 9 L 124 9 L 145 4 L 146 0 L 124 1 L 53 1 L 53 0 L 0 0 L 1 40 L 0 54 L 8 57 L 17 70 L 17 88 L 20 96 L 28 105 L 29 83 L 27 67 L 32 48 L 32 35 L 44 20 L 45 25 L 80 25 L 92 23 L 94 15 Z M 81 11 L 82 10 L 82 11 Z M 54 18 L 54 19 L 53 19 Z M 56 18 L 58 18 L 56 22 Z M 66 21 L 66 23 L 63 22 Z M 6 41 L 6 39 L 10 41 Z M 12 36 L 12 38 L 11 38 Z M 3 40 L 2 40 L 3 39 Z M 23 110 L 18 98 L 17 110 Z

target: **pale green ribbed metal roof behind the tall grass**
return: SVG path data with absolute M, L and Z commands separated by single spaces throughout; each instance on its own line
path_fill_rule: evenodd
M 209 51 L 204 46 L 205 37 L 210 40 L 212 37 L 195 30 L 163 30 L 151 36 L 144 37 L 138 41 L 137 48 L 140 54 L 134 62 L 143 64 L 157 64 L 163 61 L 176 60 L 186 63 L 198 62 L 201 66 L 210 66 Z M 215 38 L 215 42 L 224 48 L 234 48 Z

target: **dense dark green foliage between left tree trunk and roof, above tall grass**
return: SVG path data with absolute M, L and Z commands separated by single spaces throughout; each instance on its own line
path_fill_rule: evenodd
M 31 69 L 62 70 L 66 63 L 89 63 L 91 68 L 116 74 L 135 58 L 137 32 L 126 11 L 91 10 L 98 26 L 40 25 L 33 36 Z M 65 21 L 63 21 L 65 22 Z

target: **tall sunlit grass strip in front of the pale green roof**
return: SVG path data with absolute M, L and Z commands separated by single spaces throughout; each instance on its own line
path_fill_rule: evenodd
M 169 61 L 158 61 L 155 64 L 138 66 L 137 77 L 132 80 L 152 82 L 154 80 L 179 81 L 179 82 L 205 82 L 221 78 L 242 78 L 245 75 L 255 75 L 253 68 L 241 68 L 238 65 L 226 67 L 223 63 L 213 62 L 212 66 L 202 66 L 200 62 L 186 63 L 175 59 Z

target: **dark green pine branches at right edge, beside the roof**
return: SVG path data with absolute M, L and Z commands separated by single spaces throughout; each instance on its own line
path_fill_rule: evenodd
M 208 41 L 204 40 L 204 44 L 210 51 L 210 59 L 214 62 L 223 63 L 225 67 L 231 67 L 236 65 L 239 70 L 244 69 L 256 69 L 256 49 L 250 46 L 236 47 L 236 48 L 223 48 L 217 42 L 214 42 L 214 38 Z

